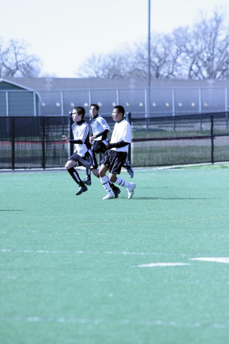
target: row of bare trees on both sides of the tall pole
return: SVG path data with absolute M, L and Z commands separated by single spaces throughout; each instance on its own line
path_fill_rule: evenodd
M 151 40 L 151 77 L 156 79 L 229 77 L 229 30 L 223 11 L 216 9 L 208 18 L 201 15 L 192 28 L 175 29 L 170 34 L 153 34 Z M 147 41 L 122 54 L 93 56 L 80 67 L 83 77 L 148 76 Z

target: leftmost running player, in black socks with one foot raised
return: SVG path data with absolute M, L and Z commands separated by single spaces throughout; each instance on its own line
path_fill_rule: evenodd
M 84 166 L 92 170 L 93 174 L 99 178 L 98 164 L 96 161 L 95 153 L 93 151 L 92 145 L 89 142 L 89 125 L 84 121 L 85 109 L 82 107 L 75 107 L 72 111 L 72 133 L 74 140 L 71 140 L 67 136 L 63 135 L 63 140 L 67 143 L 74 143 L 75 150 L 67 161 L 65 168 L 71 177 L 78 184 L 78 190 L 76 196 L 81 195 L 83 192 L 88 190 L 87 186 L 82 182 L 79 177 L 78 172 L 75 170 L 74 166 Z M 113 193 L 115 193 L 116 198 L 120 193 L 120 189 L 115 185 L 110 184 Z

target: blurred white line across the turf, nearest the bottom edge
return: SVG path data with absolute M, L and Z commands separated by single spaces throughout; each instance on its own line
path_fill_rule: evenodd
M 1 317 L 1 321 L 9 322 L 42 322 L 42 323 L 68 323 L 68 324 L 107 324 L 109 320 L 107 319 L 88 319 L 88 318 L 75 318 L 75 317 L 43 317 L 43 316 L 11 316 L 11 317 Z M 181 328 L 195 328 L 195 327 L 210 327 L 217 329 L 228 329 L 229 323 L 182 323 L 176 321 L 162 321 L 162 320 L 128 320 L 128 319 L 117 319 L 110 320 L 112 323 L 120 325 L 142 325 L 142 326 L 164 326 L 164 327 L 181 327 Z

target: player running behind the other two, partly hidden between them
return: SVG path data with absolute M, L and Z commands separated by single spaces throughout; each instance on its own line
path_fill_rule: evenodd
M 109 133 L 110 128 L 106 120 L 99 116 L 99 105 L 91 104 L 90 105 L 90 114 L 91 114 L 91 127 L 92 127 L 92 136 L 90 137 L 90 142 L 93 144 L 93 149 L 95 153 L 105 153 L 106 145 L 109 143 L 107 140 L 107 133 Z M 130 178 L 133 178 L 134 171 L 131 165 L 128 165 L 126 162 L 123 164 L 123 167 L 127 169 L 127 172 L 130 175 Z M 86 168 L 86 178 L 82 181 L 84 184 L 91 185 L 91 170 Z

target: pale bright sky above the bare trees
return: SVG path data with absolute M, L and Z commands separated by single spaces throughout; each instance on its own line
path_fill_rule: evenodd
M 211 16 L 228 0 L 151 0 L 151 33 L 169 33 Z M 7 0 L 0 37 L 25 41 L 40 58 L 40 76 L 76 77 L 92 54 L 122 50 L 148 37 L 148 0 Z

